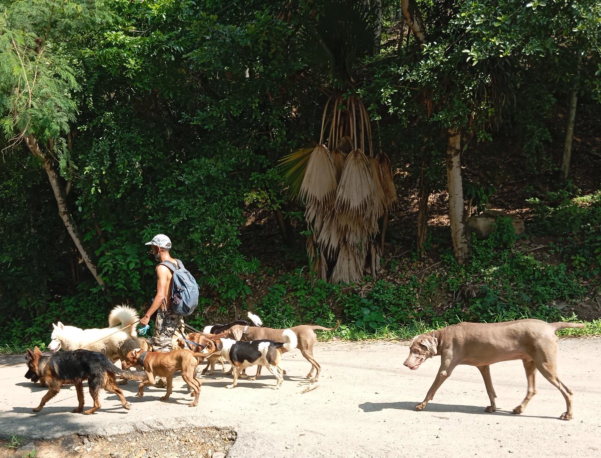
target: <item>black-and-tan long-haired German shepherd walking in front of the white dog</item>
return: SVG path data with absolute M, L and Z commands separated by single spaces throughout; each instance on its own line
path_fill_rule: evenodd
M 46 370 L 40 372 L 40 359 L 43 356 L 40 349 L 35 347 L 33 350 L 27 349 L 28 368 L 35 374 L 40 373 L 40 379 L 48 385 L 48 392 L 41 398 L 40 405 L 34 412 L 41 411 L 41 408 L 60 390 L 64 383 L 75 385 L 78 398 L 78 408 L 73 413 L 84 410 L 84 380 L 88 380 L 90 394 L 94 400 L 94 407 L 84 411 L 84 415 L 90 415 L 100 409 L 98 394 L 100 388 L 117 394 L 121 400 L 124 409 L 129 410 L 130 405 L 123 396 L 123 391 L 115 384 L 115 376 L 119 375 L 128 380 L 146 380 L 144 372 L 122 370 L 112 364 L 112 362 L 102 353 L 91 352 L 90 350 L 72 350 L 58 352 L 50 356 L 46 364 Z

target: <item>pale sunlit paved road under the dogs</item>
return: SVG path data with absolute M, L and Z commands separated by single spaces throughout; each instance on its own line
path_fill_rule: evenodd
M 234 389 L 216 373 L 204 377 L 200 405 L 188 408 L 177 377 L 170 402 L 151 388 L 138 400 L 136 384 L 124 386 L 132 410 L 121 408 L 114 394 L 103 393 L 94 415 L 71 414 L 75 391 L 63 389 L 34 414 L 45 390 L 26 380 L 23 356 L 0 357 L 0 432 L 32 438 L 71 433 L 114 435 L 132 430 L 231 426 L 238 439 L 230 458 L 350 457 L 599 457 L 601 456 L 601 338 L 560 340 L 559 375 L 575 392 L 574 418 L 565 411 L 560 392 L 537 376 L 538 394 L 525 414 L 513 415 L 526 391 L 520 361 L 493 365 L 492 379 L 500 411 L 487 414 L 484 383 L 474 367 L 456 368 L 426 411 L 414 406 L 426 395 L 439 358 L 417 371 L 403 367 L 407 342 L 334 341 L 317 343 L 322 377 L 313 386 L 303 379 L 309 364 L 295 350 L 284 355 L 288 376 L 282 388 L 270 389 L 273 376 L 243 381 Z M 91 405 L 86 392 L 86 407 Z M 160 432 L 157 431 L 157 434 Z

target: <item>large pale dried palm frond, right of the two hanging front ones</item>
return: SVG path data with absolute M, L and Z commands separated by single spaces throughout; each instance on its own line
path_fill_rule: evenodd
M 365 209 L 374 204 L 373 188 L 367 157 L 361 150 L 353 150 L 344 162 L 334 209 L 340 213 L 364 215 Z

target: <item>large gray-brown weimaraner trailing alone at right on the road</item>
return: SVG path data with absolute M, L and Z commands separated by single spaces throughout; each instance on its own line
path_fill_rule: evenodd
M 453 373 L 459 364 L 472 365 L 480 370 L 490 398 L 486 412 L 495 412 L 495 390 L 490 379 L 490 364 L 499 361 L 521 359 L 528 379 L 528 393 L 522 403 L 513 409 L 521 414 L 529 400 L 536 394 L 534 376 L 536 370 L 560 390 L 566 398 L 567 410 L 561 420 L 572 419 L 572 390 L 557 377 L 557 335 L 562 328 L 584 328 L 582 323 L 546 323 L 528 319 L 504 323 L 459 323 L 413 338 L 409 357 L 404 365 L 415 370 L 432 356 L 441 356 L 441 367 L 430 386 L 424 402 L 415 406 L 418 411 L 426 408 L 436 390 Z

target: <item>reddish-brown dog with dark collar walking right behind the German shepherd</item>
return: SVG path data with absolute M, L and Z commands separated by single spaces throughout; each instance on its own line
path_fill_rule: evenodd
M 182 378 L 188 383 L 194 401 L 188 406 L 195 407 L 198 405 L 198 396 L 200 395 L 201 382 L 194 376 L 194 371 L 198 365 L 198 358 L 206 358 L 215 352 L 215 344 L 212 341 L 207 343 L 207 346 L 198 353 L 191 352 L 187 349 L 173 350 L 172 352 L 143 352 L 141 349 L 132 350 L 127 353 L 123 368 L 129 368 L 136 365 L 141 365 L 148 376 L 148 380 L 138 385 L 138 398 L 144 394 L 145 385 L 154 385 L 154 377 L 166 377 L 167 392 L 160 398 L 162 401 L 168 400 L 172 392 L 173 374 L 176 371 L 182 371 Z

